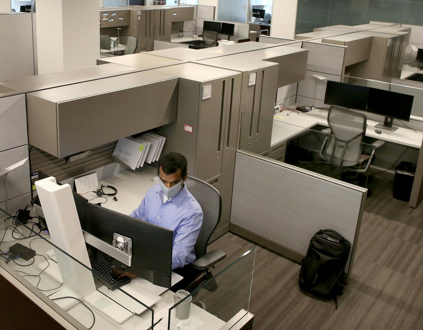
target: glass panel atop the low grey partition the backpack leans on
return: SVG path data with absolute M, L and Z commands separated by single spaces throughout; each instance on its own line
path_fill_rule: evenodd
M 331 128 L 325 109 L 285 109 L 274 118 L 243 112 L 239 149 L 367 187 L 374 153 L 383 141 L 365 137 L 363 116 L 349 111 L 332 110 Z

